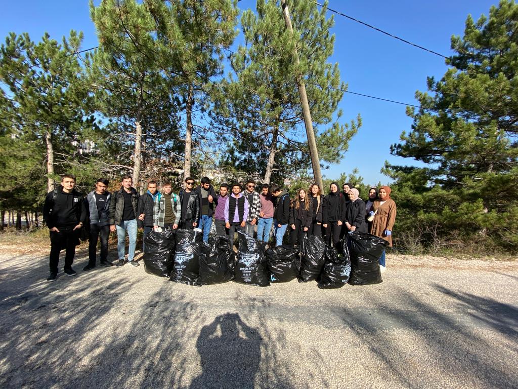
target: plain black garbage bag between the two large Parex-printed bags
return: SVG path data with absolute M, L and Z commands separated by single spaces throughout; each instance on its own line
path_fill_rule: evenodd
M 213 285 L 231 281 L 234 278 L 236 253 L 230 240 L 217 237 L 209 242 L 199 244 L 199 283 Z

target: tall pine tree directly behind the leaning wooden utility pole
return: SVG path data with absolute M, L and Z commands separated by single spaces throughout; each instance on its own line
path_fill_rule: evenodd
M 321 161 L 338 162 L 361 123 L 359 117 L 350 125 L 340 123 L 338 104 L 347 87 L 338 64 L 327 62 L 335 42 L 329 33 L 333 18 L 326 19 L 325 6 L 319 11 L 309 0 L 288 3 L 293 36 L 279 1 L 258 0 L 256 13 L 243 12 L 245 44 L 231 57 L 236 78 L 230 75 L 213 88 L 211 118 L 224 135 L 221 142 L 230 146 L 224 163 L 261 172 L 265 182 L 275 172 L 286 175 L 310 166 L 297 74 L 306 82 Z

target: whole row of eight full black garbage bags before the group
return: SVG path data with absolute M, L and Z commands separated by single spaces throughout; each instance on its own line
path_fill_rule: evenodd
M 264 287 L 297 279 L 316 281 L 320 289 L 337 289 L 347 283 L 382 282 L 379 258 L 386 242 L 368 233 L 347 234 L 339 249 L 315 235 L 304 237 L 299 247 L 268 249 L 265 242 L 242 231 L 238 235 L 235 253 L 226 237 L 211 235 L 207 243 L 199 230 L 152 231 L 145 241 L 144 268 L 147 273 L 193 286 L 234 281 Z

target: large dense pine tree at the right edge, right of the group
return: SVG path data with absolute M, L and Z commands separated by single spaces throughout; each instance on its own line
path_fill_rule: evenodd
M 426 167 L 386 164 L 384 172 L 396 179 L 407 227 L 417 217 L 426 239 L 434 226 L 447 241 L 456 235 L 518 248 L 516 31 L 514 1 L 477 22 L 469 16 L 464 36 L 452 37 L 450 68 L 439 81 L 428 78 L 429 93 L 416 93 L 422 108 L 407 109 L 412 131 L 391 153 Z

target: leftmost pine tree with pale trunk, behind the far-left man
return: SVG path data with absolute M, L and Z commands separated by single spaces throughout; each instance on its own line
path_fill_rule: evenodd
M 0 101 L 2 147 L 12 150 L 3 157 L 3 177 L 15 175 L 21 183 L 45 166 L 47 189 L 52 190 L 56 176 L 73 168 L 81 143 L 96 132 L 76 55 L 81 40 L 75 31 L 62 44 L 48 34 L 34 43 L 28 34 L 11 33 L 2 45 L 0 80 L 8 89 Z M 27 155 L 23 161 L 11 160 L 20 153 Z

